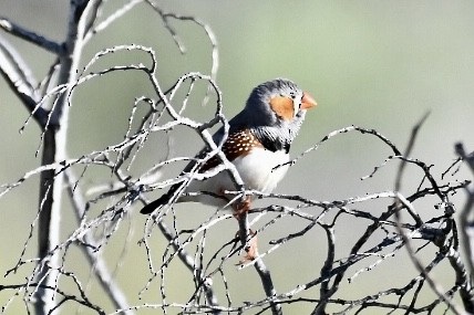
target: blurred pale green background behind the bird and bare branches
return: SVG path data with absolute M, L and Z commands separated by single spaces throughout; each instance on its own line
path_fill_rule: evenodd
M 124 1 L 110 2 L 104 14 L 112 12 Z M 2 0 L 0 15 L 47 38 L 61 41 L 65 35 L 68 3 L 69 1 L 53 0 Z M 456 141 L 463 141 L 467 149 L 474 148 L 472 1 L 174 0 L 157 3 L 165 11 L 194 15 L 206 22 L 215 32 L 219 49 L 217 84 L 224 95 L 227 117 L 241 109 L 255 85 L 277 76 L 293 80 L 315 96 L 319 106 L 308 113 L 300 136 L 292 146 L 293 156 L 315 145 L 328 133 L 350 125 L 374 128 L 403 149 L 411 128 L 427 111 L 431 111 L 431 115 L 420 132 L 413 157 L 434 165 L 433 174 L 440 176 L 454 160 L 453 146 Z M 102 49 L 135 43 L 152 46 L 157 52 L 157 76 L 165 88 L 186 72 L 199 71 L 208 74 L 212 62 L 210 45 L 204 31 L 190 22 L 172 21 L 171 24 L 186 46 L 184 55 L 179 53 L 157 15 L 148 7 L 138 6 L 122 20 L 99 33 L 85 49 L 82 62 L 89 62 Z M 43 77 L 53 57 L 43 50 L 8 34 L 2 36 L 22 53 L 37 78 Z M 97 69 L 105 69 L 117 61 L 122 64 L 137 63 L 145 62 L 146 57 L 143 54 L 123 54 L 123 57 L 118 55 L 116 59 L 114 56 L 100 61 Z M 0 182 L 4 183 L 17 180 L 27 170 L 39 165 L 40 158 L 37 158 L 34 153 L 40 144 L 40 135 L 34 124 L 29 125 L 22 135 L 19 134 L 28 113 L 3 80 L 0 81 L 0 125 L 3 126 L 0 137 L 3 161 L 0 164 Z M 111 75 L 109 80 L 92 81 L 84 85 L 76 92 L 76 103 L 71 109 L 68 144 L 70 156 L 80 156 L 120 141 L 126 130 L 126 119 L 134 98 L 150 93 L 146 80 L 136 74 Z M 212 109 L 205 113 L 213 113 Z M 190 102 L 188 111 L 193 117 L 208 117 L 203 114 L 199 97 Z M 174 139 L 176 144 L 185 141 L 179 135 L 178 133 Z M 177 151 L 193 155 L 199 146 L 198 141 L 186 143 L 184 147 L 177 148 Z M 143 167 L 153 165 L 156 159 L 153 154 L 158 155 L 153 149 L 148 150 L 150 155 L 141 161 Z M 388 155 L 388 148 L 370 136 L 339 136 L 292 167 L 278 192 L 298 193 L 316 200 L 336 200 L 390 190 L 394 185 L 395 162 L 381 169 L 373 179 L 360 180 Z M 111 180 L 107 176 L 110 175 L 105 172 L 100 180 L 94 180 L 104 183 Z M 462 168 L 455 178 L 470 179 L 471 175 Z M 420 179 L 419 171 L 409 172 L 404 182 L 408 191 L 413 191 L 409 189 L 419 183 L 413 181 L 414 179 Z M 450 177 L 449 180 L 453 178 Z M 456 195 L 453 200 L 461 208 L 464 196 Z M 0 238 L 8 240 L 0 242 L 2 274 L 14 265 L 20 255 L 37 212 L 37 203 L 38 179 L 27 181 L 20 189 L 0 200 Z M 433 208 L 421 206 L 419 211 L 424 218 L 441 214 L 434 212 Z M 178 207 L 182 208 L 178 210 L 178 214 L 183 216 L 182 228 L 202 219 L 200 213 L 208 216 L 212 213 L 209 211 L 213 211 L 196 204 Z M 188 208 L 193 209 L 187 211 Z M 195 208 L 203 210 L 193 211 Z M 375 213 L 384 210 L 379 206 L 369 209 L 377 211 Z M 64 214 L 64 235 L 74 228 L 71 220 L 69 214 Z M 118 272 L 118 281 L 127 284 L 128 294 L 136 294 L 147 279 L 144 250 L 137 249 L 136 245 L 143 230 L 143 218 L 131 219 L 131 224 L 135 227 L 135 237 L 132 237 L 128 254 L 123 263 L 127 267 Z M 228 239 L 231 238 L 228 231 L 236 230 L 237 225 L 230 221 L 226 224 L 221 230 L 227 229 L 225 238 Z M 285 230 L 285 227 L 282 229 Z M 348 224 L 338 231 L 338 242 L 344 244 L 344 240 L 359 235 L 363 227 Z M 278 231 L 274 232 L 274 235 L 267 238 L 282 235 Z M 125 238 L 126 230 L 122 234 Z M 315 274 L 315 270 L 320 267 L 320 260 L 326 256 L 326 239 L 322 239 L 321 244 L 323 254 L 319 255 L 318 251 L 313 250 L 318 248 L 318 238 L 322 235 L 319 230 L 311 237 L 282 249 L 279 256 L 268 256 L 267 263 L 276 277 L 279 292 L 290 290 L 298 281 L 312 279 L 306 274 Z M 264 241 L 260 242 L 265 244 L 265 235 L 262 238 Z M 117 243 L 116 250 L 114 242 Z M 122 246 L 120 238 L 112 240 L 112 246 L 106 252 L 112 266 L 114 259 L 118 259 Z M 308 248 L 311 250 L 307 251 Z M 33 238 L 28 246 L 27 258 L 34 254 Z M 401 254 L 398 261 L 388 261 L 387 270 L 398 267 L 398 276 L 412 270 L 410 263 L 402 260 L 403 255 Z M 137 258 L 140 263 L 135 261 Z M 78 265 L 71 267 L 86 275 L 89 269 L 82 260 L 78 251 Z M 159 261 L 159 254 L 157 260 Z M 296 260 L 308 263 L 298 265 L 290 272 L 291 267 L 288 266 L 292 266 Z M 183 271 L 177 267 L 172 274 L 175 274 L 174 272 L 178 274 Z M 253 294 L 264 297 L 254 270 L 238 272 L 229 269 L 228 272 L 230 281 L 246 281 L 231 282 L 233 290 L 241 292 L 241 296 L 237 295 L 236 301 L 258 298 Z M 176 276 L 179 279 L 179 275 Z M 364 280 L 349 285 L 344 292 L 352 297 L 359 296 L 359 293 L 373 292 L 371 285 L 380 282 L 380 275 L 365 273 L 364 276 Z M 138 279 L 138 283 L 131 284 L 130 279 Z M 176 280 L 177 284 L 171 285 L 169 301 L 173 296 L 183 298 L 179 295 L 183 294 L 179 282 L 188 281 L 188 277 L 184 279 L 186 280 Z M 287 279 L 292 279 L 292 282 L 288 283 Z M 452 274 L 440 272 L 441 283 L 444 279 L 452 281 Z M 0 279 L 0 283 L 4 281 L 7 282 L 6 279 Z M 168 277 L 168 281 L 173 283 L 175 280 Z M 157 287 L 155 283 L 154 290 Z M 4 298 L 10 295 L 11 292 L 0 293 L 2 305 Z M 426 295 L 430 296 L 430 293 L 426 292 Z M 225 297 L 220 298 L 224 301 Z M 131 301 L 143 303 L 136 296 Z M 13 312 L 14 307 L 13 305 L 10 312 Z M 291 312 L 298 309 L 307 313 L 312 309 L 311 305 L 301 307 Z

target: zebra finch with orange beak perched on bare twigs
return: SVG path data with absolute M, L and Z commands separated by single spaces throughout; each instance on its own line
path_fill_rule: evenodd
M 306 112 L 316 105 L 315 98 L 292 81 L 275 78 L 251 91 L 244 109 L 228 122 L 227 138 L 224 127 L 214 134 L 217 145 L 224 140 L 221 151 L 234 164 L 245 189 L 268 193 L 277 187 L 289 168 L 290 146 Z M 182 174 L 196 171 L 196 164 L 209 151 L 209 147 L 202 149 Z M 219 157 L 213 156 L 198 166 L 197 171 L 206 175 L 221 162 Z M 229 172 L 219 171 L 204 180 L 193 179 L 187 186 L 183 182 L 173 185 L 166 193 L 146 204 L 141 213 L 150 214 L 167 204 L 190 201 L 223 208 L 235 199 L 235 195 L 225 192 L 235 190 L 237 187 Z M 251 198 L 231 203 L 235 213 L 248 211 Z

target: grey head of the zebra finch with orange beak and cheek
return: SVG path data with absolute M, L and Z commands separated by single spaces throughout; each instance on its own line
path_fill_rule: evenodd
M 245 108 L 230 120 L 230 132 L 250 129 L 264 144 L 275 144 L 272 150 L 289 148 L 306 111 L 315 99 L 287 78 L 265 82 L 250 93 Z

